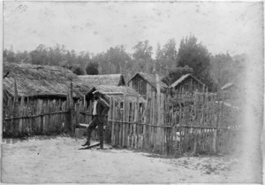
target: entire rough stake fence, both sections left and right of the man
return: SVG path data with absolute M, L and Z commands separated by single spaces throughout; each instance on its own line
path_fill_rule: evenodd
M 16 88 L 16 85 L 15 85 Z M 113 146 L 155 151 L 168 155 L 229 153 L 240 145 L 240 110 L 218 101 L 214 93 L 160 94 L 149 92 L 146 101 L 133 101 L 108 94 L 110 111 L 104 138 Z M 159 98 L 158 98 L 159 97 Z M 9 96 L 3 112 L 4 137 L 76 133 L 88 124 L 91 102 L 72 99 L 72 86 L 66 100 L 18 98 Z M 97 131 L 92 135 L 98 138 Z

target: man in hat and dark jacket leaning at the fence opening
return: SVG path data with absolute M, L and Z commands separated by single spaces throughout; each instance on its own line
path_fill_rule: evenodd
M 103 125 L 105 121 L 105 116 L 110 110 L 110 105 L 107 104 L 102 98 L 101 93 L 98 90 L 93 92 L 94 94 L 94 102 L 92 108 L 92 121 L 89 123 L 87 127 L 87 142 L 82 146 L 90 145 L 90 137 L 92 131 L 95 127 L 98 127 L 99 138 L 100 138 L 100 147 L 99 149 L 103 149 Z

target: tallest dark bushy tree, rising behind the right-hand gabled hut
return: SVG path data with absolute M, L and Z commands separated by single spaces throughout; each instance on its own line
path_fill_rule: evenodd
M 189 66 L 193 75 L 204 82 L 209 89 L 213 86 L 210 76 L 210 53 L 193 35 L 183 38 L 178 49 L 177 66 Z

